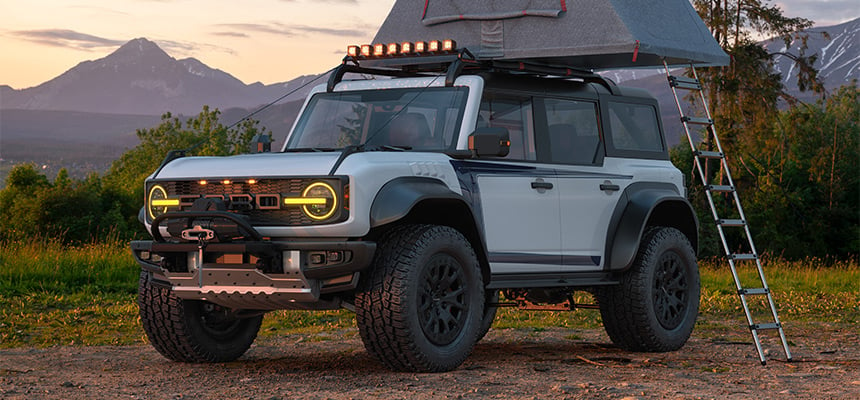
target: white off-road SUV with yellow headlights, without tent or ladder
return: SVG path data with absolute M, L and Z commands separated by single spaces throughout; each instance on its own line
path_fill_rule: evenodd
M 577 290 L 619 346 L 683 346 L 698 222 L 653 97 L 456 50 L 365 58 L 312 91 L 282 151 L 168 159 L 146 181 L 153 240 L 132 249 L 159 352 L 233 360 L 267 311 L 344 307 L 386 366 L 446 371 L 499 292 L 572 309 Z

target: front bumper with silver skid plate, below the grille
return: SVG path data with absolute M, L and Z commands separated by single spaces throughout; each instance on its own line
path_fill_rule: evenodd
M 373 260 L 365 241 L 133 241 L 132 253 L 155 284 L 178 297 L 231 308 L 308 308 L 320 294 L 348 291 Z M 300 304 L 305 303 L 302 306 Z

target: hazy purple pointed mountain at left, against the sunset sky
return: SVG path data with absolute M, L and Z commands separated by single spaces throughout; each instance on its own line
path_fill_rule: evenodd
M 246 85 L 197 59 L 177 60 L 157 44 L 134 39 L 104 58 L 84 61 L 39 86 L 0 86 L 4 109 L 108 114 L 196 114 L 204 104 L 252 108 L 277 98 L 284 84 Z

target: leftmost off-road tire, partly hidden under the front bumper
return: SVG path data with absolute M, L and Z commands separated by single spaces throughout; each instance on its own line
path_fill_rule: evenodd
M 251 347 L 263 316 L 236 318 L 215 304 L 183 300 L 155 286 L 142 271 L 137 304 L 140 322 L 152 347 L 181 362 L 226 362 Z

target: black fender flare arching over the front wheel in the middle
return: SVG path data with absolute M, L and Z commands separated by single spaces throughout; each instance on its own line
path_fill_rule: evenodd
M 450 226 L 472 245 L 486 284 L 490 264 L 475 216 L 463 196 L 454 193 L 444 182 L 426 177 L 401 177 L 383 185 L 376 194 L 370 207 L 370 236 L 379 237 L 402 224 Z

